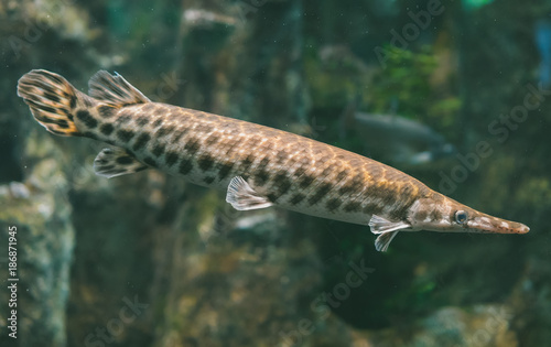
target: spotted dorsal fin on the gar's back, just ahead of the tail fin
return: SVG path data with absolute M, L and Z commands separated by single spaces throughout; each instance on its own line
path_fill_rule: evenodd
M 121 75 L 115 73 L 115 76 L 101 69 L 91 76 L 88 82 L 88 94 L 112 107 L 122 107 L 134 104 L 145 104 L 148 99 L 140 90 L 136 89 Z

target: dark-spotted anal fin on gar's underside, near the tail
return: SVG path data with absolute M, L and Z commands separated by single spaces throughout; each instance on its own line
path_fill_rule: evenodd
M 148 169 L 132 154 L 120 148 L 105 149 L 94 160 L 94 172 L 107 178 L 131 174 Z

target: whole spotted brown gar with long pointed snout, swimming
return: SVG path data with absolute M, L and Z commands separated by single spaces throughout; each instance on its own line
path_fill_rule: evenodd
M 282 130 L 198 110 L 152 102 L 122 76 L 98 72 L 89 96 L 62 76 L 34 69 L 18 95 L 47 131 L 111 144 L 94 161 L 114 177 L 154 167 L 227 189 L 248 210 L 277 205 L 294 212 L 368 225 L 377 250 L 399 231 L 526 234 L 462 205 L 377 161 Z

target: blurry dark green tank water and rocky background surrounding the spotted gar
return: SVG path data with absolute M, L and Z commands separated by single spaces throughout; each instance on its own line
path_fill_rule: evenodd
M 0 344 L 545 346 L 550 15 L 512 0 L 1 1 Z M 33 68 L 84 93 L 117 72 L 153 101 L 360 153 L 530 232 L 400 232 L 382 253 L 368 226 L 237 212 L 155 170 L 108 180 L 93 169 L 108 144 L 33 120 L 17 95 Z

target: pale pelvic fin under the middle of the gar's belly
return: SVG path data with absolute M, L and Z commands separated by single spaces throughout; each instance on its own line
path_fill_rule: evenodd
M 236 176 L 229 182 L 226 202 L 238 210 L 266 208 L 273 205 L 268 197 L 258 194 L 241 176 Z

